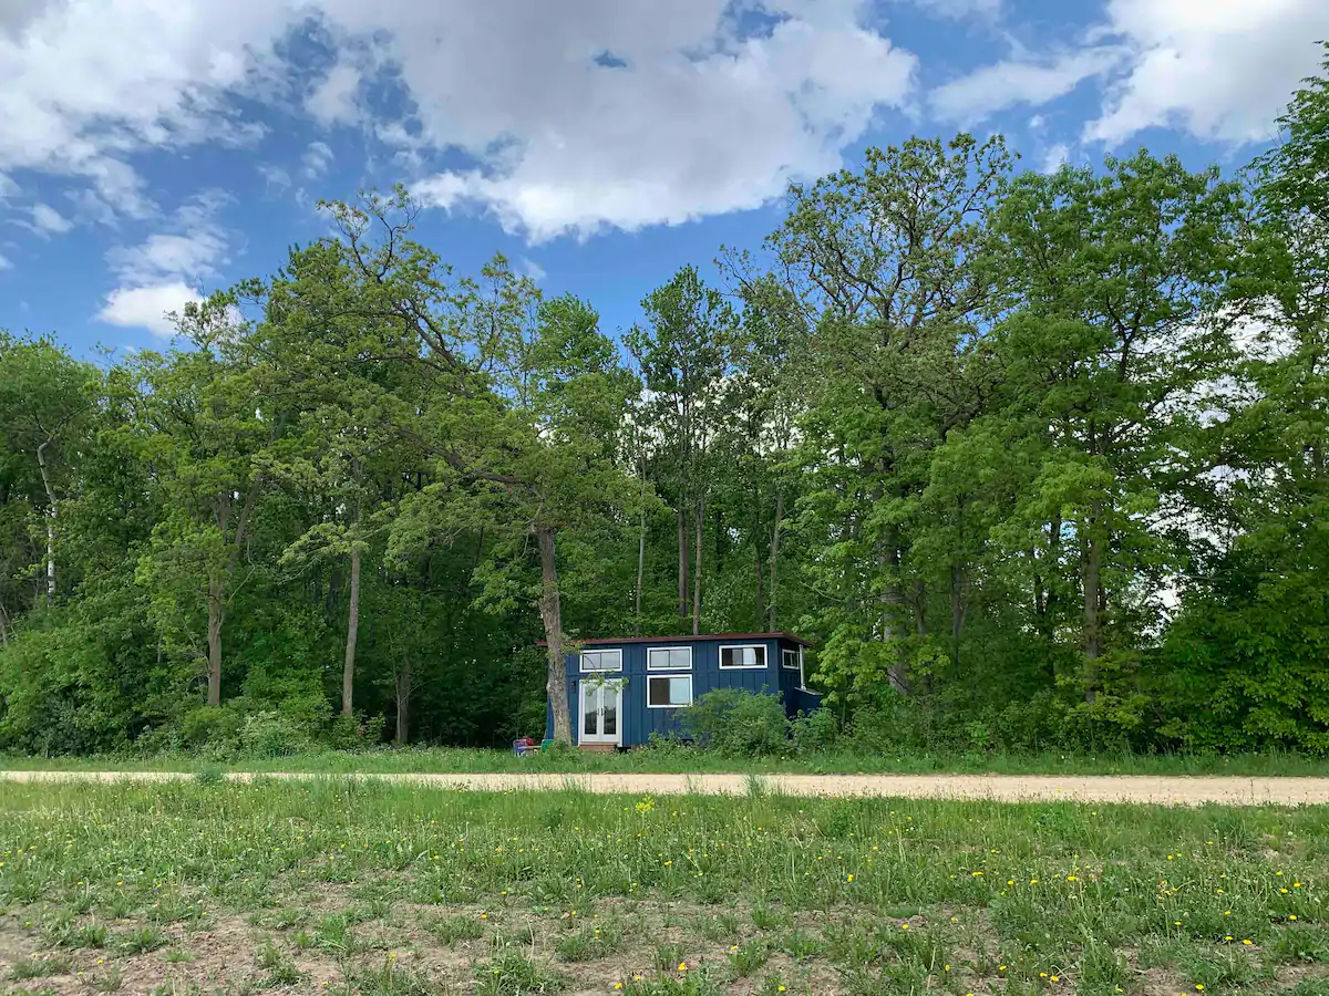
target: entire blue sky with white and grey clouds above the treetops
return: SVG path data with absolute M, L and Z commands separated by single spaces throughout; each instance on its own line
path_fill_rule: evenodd
M 456 272 L 501 251 L 613 333 L 912 134 L 1236 170 L 1318 39 L 1326 0 L 0 0 L 0 328 L 163 348 L 401 182 Z

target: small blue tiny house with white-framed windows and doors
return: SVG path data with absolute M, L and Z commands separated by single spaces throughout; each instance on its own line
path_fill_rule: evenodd
M 791 633 L 621 636 L 578 640 L 565 655 L 573 738 L 594 750 L 639 746 L 678 729 L 678 710 L 715 688 L 779 693 L 788 716 L 821 703 L 804 680 L 804 648 Z M 545 736 L 554 729 L 546 709 Z

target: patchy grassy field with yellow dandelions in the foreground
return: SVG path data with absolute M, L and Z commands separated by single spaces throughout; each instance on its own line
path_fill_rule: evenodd
M 0 788 L 9 992 L 1329 996 L 1329 809 Z

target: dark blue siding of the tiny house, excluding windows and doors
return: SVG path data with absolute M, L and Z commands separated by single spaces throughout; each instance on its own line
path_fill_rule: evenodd
M 720 668 L 720 647 L 735 644 L 760 644 L 766 647 L 766 668 Z M 692 669 L 683 671 L 647 671 L 646 651 L 661 647 L 691 647 Z M 797 644 L 779 637 L 728 640 L 728 639 L 696 639 L 679 637 L 672 643 L 597 643 L 587 649 L 621 649 L 623 652 L 622 672 L 601 672 L 605 677 L 627 679 L 623 688 L 623 714 L 622 744 L 623 746 L 637 746 L 650 741 L 653 733 L 667 736 L 678 730 L 678 709 L 653 709 L 646 705 L 646 679 L 650 675 L 683 675 L 692 676 L 692 699 L 715 688 L 744 688 L 750 692 L 780 693 L 785 712 L 792 716 L 797 710 L 808 712 L 816 708 L 817 697 L 800 692 L 799 672 L 785 671 L 780 667 L 781 648 L 797 649 Z M 586 675 L 581 672 L 581 656 L 569 653 L 567 664 L 567 709 L 573 717 L 574 742 L 581 742 L 581 683 Z M 553 710 L 546 710 L 546 737 L 553 736 Z

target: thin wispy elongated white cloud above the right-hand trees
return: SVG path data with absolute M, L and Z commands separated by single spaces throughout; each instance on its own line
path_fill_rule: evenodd
M 1018 104 L 1038 106 L 1065 97 L 1084 80 L 1110 69 L 1122 56 L 1122 49 L 1099 46 L 1049 61 L 995 62 L 942 84 L 932 92 L 929 104 L 948 121 L 973 124 Z

